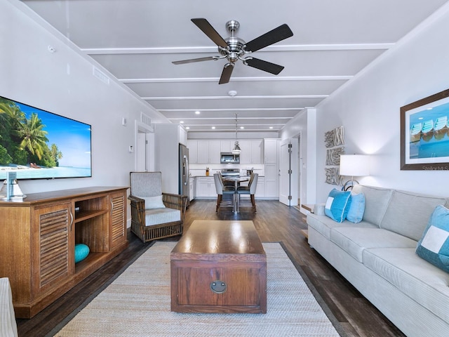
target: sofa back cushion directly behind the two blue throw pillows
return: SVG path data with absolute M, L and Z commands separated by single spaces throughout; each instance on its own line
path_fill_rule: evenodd
M 363 220 L 379 227 L 380 221 L 387 210 L 393 190 L 387 190 L 381 187 L 355 185 L 352 192 L 363 193 L 363 195 L 365 195 L 366 204 Z

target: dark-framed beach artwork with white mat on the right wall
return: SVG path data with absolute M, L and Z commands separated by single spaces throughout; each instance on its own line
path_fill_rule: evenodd
M 401 170 L 449 170 L 449 89 L 401 107 Z

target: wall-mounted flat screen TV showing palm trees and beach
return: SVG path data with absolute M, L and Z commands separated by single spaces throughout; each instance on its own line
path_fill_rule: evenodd
M 0 179 L 92 176 L 91 126 L 0 96 Z

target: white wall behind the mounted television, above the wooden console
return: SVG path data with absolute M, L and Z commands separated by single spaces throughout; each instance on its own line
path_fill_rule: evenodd
M 105 84 L 94 77 L 95 61 L 20 1 L 0 3 L 0 46 L 0 95 L 92 125 L 92 178 L 22 180 L 22 192 L 128 186 L 135 119 L 144 112 L 152 122 L 167 120 L 114 78 Z

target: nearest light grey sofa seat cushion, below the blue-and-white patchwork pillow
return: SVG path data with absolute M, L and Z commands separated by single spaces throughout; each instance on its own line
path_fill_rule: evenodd
M 415 249 L 366 249 L 363 263 L 434 315 L 449 322 L 449 274 L 422 260 L 415 254 Z

